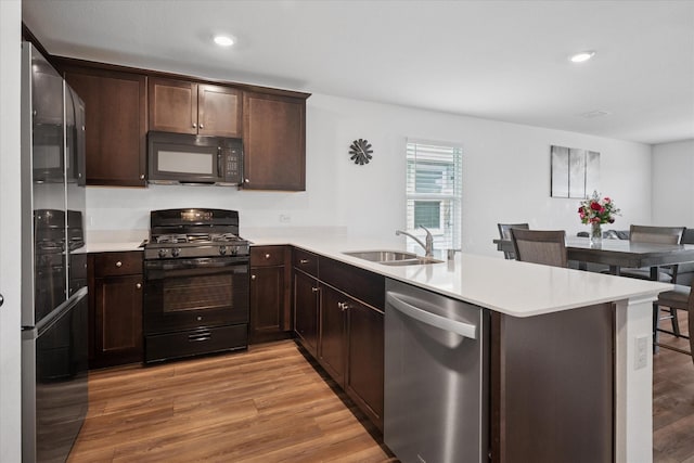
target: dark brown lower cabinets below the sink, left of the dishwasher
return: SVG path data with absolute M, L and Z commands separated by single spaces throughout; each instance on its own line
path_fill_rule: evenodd
M 383 430 L 385 278 L 294 249 L 294 332 Z

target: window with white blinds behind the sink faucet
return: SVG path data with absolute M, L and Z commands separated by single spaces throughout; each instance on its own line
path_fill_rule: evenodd
M 463 151 L 436 142 L 407 142 L 407 228 L 434 235 L 435 249 L 461 247 Z

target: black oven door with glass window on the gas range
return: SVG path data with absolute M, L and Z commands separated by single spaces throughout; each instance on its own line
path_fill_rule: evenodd
M 144 334 L 248 322 L 247 257 L 145 260 Z

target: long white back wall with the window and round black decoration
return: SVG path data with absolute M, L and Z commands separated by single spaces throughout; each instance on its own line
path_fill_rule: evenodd
M 211 187 L 89 188 L 90 231 L 147 229 L 151 209 L 223 207 L 241 213 L 244 227 L 347 227 L 350 232 L 393 235 L 404 226 L 407 137 L 461 143 L 463 248 L 501 255 L 491 240 L 497 222 L 532 228 L 587 230 L 578 200 L 550 197 L 550 145 L 601 153 L 602 193 L 622 210 L 614 224 L 651 222 L 651 146 L 560 130 L 313 94 L 307 101 L 307 191 L 250 192 Z M 365 138 L 373 159 L 349 159 L 350 143 Z M 291 223 L 280 223 L 288 215 Z

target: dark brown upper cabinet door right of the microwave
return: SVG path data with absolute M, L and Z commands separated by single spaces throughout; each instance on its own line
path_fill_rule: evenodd
M 306 100 L 244 93 L 244 188 L 306 190 Z

